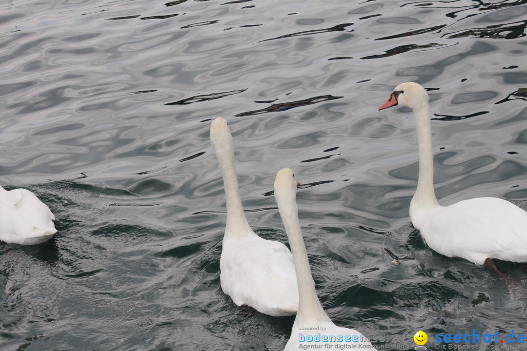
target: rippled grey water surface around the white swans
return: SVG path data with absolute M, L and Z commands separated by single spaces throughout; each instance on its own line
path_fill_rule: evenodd
M 260 236 L 287 241 L 276 172 L 303 184 L 311 269 L 338 325 L 404 349 L 419 329 L 527 332 L 524 298 L 424 245 L 408 218 L 414 119 L 377 111 L 421 83 L 440 202 L 527 208 L 526 18 L 524 0 L 5 0 L 0 184 L 34 191 L 58 233 L 0 245 L 2 350 L 284 348 L 294 317 L 239 308 L 219 284 L 218 116 Z M 526 279 L 526 265 L 498 266 Z

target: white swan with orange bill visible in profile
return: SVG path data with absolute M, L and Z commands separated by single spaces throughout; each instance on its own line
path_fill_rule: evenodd
M 527 262 L 527 212 L 512 203 L 479 197 L 450 206 L 437 203 L 428 94 L 417 83 L 395 87 L 379 111 L 401 104 L 415 115 L 419 152 L 419 178 L 410 203 L 410 219 L 426 244 L 448 257 L 461 257 L 494 270 L 493 258 Z

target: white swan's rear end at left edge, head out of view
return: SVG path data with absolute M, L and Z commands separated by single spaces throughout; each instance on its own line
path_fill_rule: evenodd
M 0 186 L 0 241 L 43 243 L 57 232 L 54 220 L 50 209 L 29 190 L 7 191 Z

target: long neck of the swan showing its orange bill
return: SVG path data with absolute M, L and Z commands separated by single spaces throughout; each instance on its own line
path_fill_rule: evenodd
M 423 102 L 414 108 L 417 144 L 419 151 L 419 178 L 412 199 L 419 207 L 438 205 L 434 191 L 434 159 L 432 154 L 432 129 L 430 107 Z

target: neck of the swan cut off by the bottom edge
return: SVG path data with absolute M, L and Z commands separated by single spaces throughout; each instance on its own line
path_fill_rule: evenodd
M 289 204 L 278 206 L 286 227 L 287 238 L 295 261 L 295 272 L 298 284 L 298 313 L 295 323 L 309 324 L 329 321 L 329 317 L 320 305 L 315 282 L 307 258 L 304 238 L 300 232 L 298 209 L 293 199 Z M 314 325 L 315 326 L 315 325 Z

